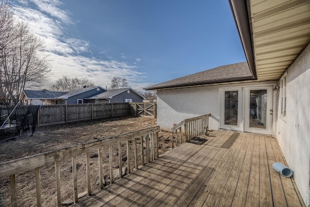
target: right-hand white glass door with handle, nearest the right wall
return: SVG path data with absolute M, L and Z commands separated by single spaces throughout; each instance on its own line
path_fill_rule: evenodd
M 246 87 L 244 131 L 272 135 L 272 86 Z

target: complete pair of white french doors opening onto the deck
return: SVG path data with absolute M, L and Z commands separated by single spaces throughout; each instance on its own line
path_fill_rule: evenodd
M 272 88 L 220 88 L 220 128 L 272 135 Z

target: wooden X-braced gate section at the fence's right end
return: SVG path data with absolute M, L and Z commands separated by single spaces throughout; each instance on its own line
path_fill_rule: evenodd
M 129 114 L 157 117 L 156 103 L 129 103 Z

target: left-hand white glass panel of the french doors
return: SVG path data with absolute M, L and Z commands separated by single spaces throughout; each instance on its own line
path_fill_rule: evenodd
M 243 130 L 243 89 L 220 88 L 220 128 Z

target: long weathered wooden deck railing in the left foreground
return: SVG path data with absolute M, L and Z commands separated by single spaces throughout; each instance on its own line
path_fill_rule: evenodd
M 72 175 L 73 175 L 73 201 L 78 202 L 78 183 L 77 183 L 77 156 L 86 154 L 86 182 L 87 182 L 87 194 L 91 194 L 91 171 L 90 171 L 90 151 L 98 151 L 98 174 L 99 174 L 99 188 L 103 188 L 103 175 L 102 175 L 102 148 L 109 147 L 109 176 L 110 184 L 113 183 L 113 167 L 112 167 L 112 148 L 117 146 L 119 150 L 119 171 L 120 177 L 122 177 L 122 143 L 126 143 L 127 148 L 127 173 L 130 173 L 130 143 L 134 142 L 134 160 L 135 167 L 138 169 L 138 146 L 137 139 L 140 139 L 140 156 L 141 165 L 145 164 L 144 157 L 146 156 L 146 163 L 150 160 L 158 158 L 158 132 L 159 126 L 151 127 L 147 129 L 142 129 L 139 131 L 134 131 L 126 134 L 116 135 L 102 140 L 98 140 L 92 143 L 84 143 L 73 147 L 67 147 L 64 149 L 51 151 L 47 153 L 37 154 L 30 157 L 25 157 L 21 159 L 15 159 L 7 162 L 0 163 L 0 176 L 10 177 L 10 189 L 11 189 L 11 202 L 12 207 L 19 206 L 17 203 L 16 196 L 16 174 L 34 169 L 35 174 L 35 186 L 36 186 L 36 200 L 37 206 L 42 206 L 41 199 L 41 186 L 40 186 L 40 167 L 55 163 L 55 176 L 56 176 L 56 191 L 57 191 L 57 206 L 62 206 L 61 197 L 61 170 L 60 162 L 64 159 L 72 159 Z M 145 144 L 143 143 L 145 140 Z M 145 146 L 146 145 L 146 146 Z M 151 145 L 151 146 L 150 146 Z M 144 150 L 144 147 L 146 150 Z M 144 155 L 144 151 L 146 152 Z M 131 155 L 132 156 L 132 155 Z

